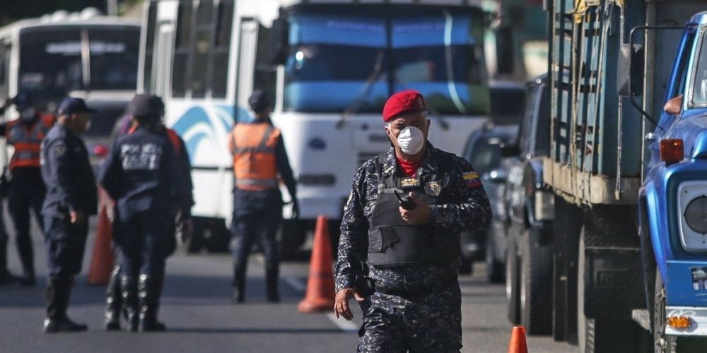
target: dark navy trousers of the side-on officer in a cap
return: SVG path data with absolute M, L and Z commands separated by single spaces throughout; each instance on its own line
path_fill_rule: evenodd
M 62 215 L 45 215 L 44 224 L 49 278 L 69 280 L 81 272 L 88 225 L 72 225 Z

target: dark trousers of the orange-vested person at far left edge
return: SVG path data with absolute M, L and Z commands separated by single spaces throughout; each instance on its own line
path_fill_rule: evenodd
M 45 194 L 44 181 L 39 168 L 18 167 L 13 170 L 13 178 L 8 192 L 8 208 L 15 225 L 17 250 L 25 275 L 34 274 L 34 249 L 30 237 L 30 209 L 34 210 L 40 229 L 42 225 L 42 204 Z

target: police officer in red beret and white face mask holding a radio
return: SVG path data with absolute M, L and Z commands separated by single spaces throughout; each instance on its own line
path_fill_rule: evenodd
M 489 225 L 489 198 L 469 162 L 427 140 L 419 92 L 392 95 L 383 120 L 392 146 L 358 168 L 344 207 L 334 313 L 362 304 L 358 352 L 459 352 L 459 237 Z

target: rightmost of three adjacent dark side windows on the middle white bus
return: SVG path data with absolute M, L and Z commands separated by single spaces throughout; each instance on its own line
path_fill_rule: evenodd
M 233 2 L 218 3 L 216 38 L 214 43 L 214 65 L 211 75 L 211 97 L 226 97 L 228 83 L 228 48 L 233 25 Z

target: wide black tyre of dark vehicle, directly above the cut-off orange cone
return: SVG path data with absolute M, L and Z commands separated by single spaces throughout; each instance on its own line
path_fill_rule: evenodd
M 552 333 L 552 246 L 542 245 L 537 228 L 522 235 L 520 256 L 520 312 L 522 325 L 532 335 Z

